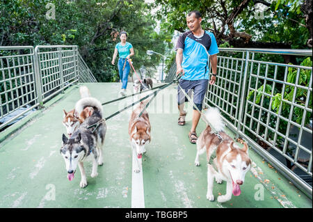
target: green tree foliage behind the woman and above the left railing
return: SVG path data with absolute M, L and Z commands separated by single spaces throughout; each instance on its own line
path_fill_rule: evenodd
M 56 19 L 47 19 L 55 6 Z M 80 54 L 98 81 L 117 81 L 111 65 L 120 31 L 134 46 L 134 67 L 154 70 L 164 53 L 169 33 L 154 31 L 157 23 L 144 0 L 3 0 L 0 2 L 0 45 L 78 45 Z M 150 72 L 151 73 L 151 72 Z

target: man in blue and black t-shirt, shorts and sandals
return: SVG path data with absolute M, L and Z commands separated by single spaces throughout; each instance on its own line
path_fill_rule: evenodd
M 179 85 L 188 95 L 193 90 L 193 102 L 202 110 L 202 102 L 207 93 L 208 84 L 214 84 L 216 81 L 218 46 L 213 33 L 204 31 L 201 28 L 201 14 L 198 11 L 188 13 L 186 17 L 187 26 L 190 31 L 186 31 L 179 36 L 176 45 L 176 74 L 183 73 L 179 79 Z M 209 81 L 209 62 L 211 62 L 211 78 Z M 179 125 L 185 125 L 186 111 L 184 111 L 184 102 L 186 97 L 178 87 L 177 102 L 179 109 Z M 188 134 L 189 141 L 195 143 L 198 136 L 195 129 L 200 120 L 201 113 L 193 107 L 193 120 L 191 131 Z

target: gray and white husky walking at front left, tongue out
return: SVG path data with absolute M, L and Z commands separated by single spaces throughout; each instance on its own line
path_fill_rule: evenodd
M 101 166 L 103 164 L 102 146 L 106 134 L 106 123 L 103 120 L 98 127 L 94 126 L 88 129 L 88 127 L 101 120 L 101 111 L 94 111 L 91 116 L 86 118 L 70 138 L 67 138 L 65 134 L 63 134 L 62 137 L 63 144 L 60 152 L 65 160 L 67 179 L 70 181 L 73 180 L 78 165 L 79 171 L 81 171 L 81 188 L 87 186 L 83 161 L 87 157 L 93 159 L 93 171 L 91 177 L 96 177 L 98 175 L 97 165 Z

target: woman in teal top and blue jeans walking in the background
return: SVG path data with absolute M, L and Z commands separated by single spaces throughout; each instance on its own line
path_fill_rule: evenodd
M 115 50 L 112 58 L 112 65 L 115 65 L 115 58 L 118 58 L 118 72 L 120 74 L 120 80 L 122 81 L 122 88 L 120 90 L 120 95 L 125 96 L 128 75 L 130 70 L 130 65 L 128 59 L 130 56 L 134 56 L 134 48 L 131 43 L 127 42 L 127 33 L 122 31 L 120 33 L 120 42 L 115 45 Z

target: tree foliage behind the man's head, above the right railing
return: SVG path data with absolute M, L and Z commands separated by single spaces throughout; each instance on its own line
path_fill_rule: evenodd
M 312 38 L 312 9 L 311 14 L 306 13 L 305 2 L 312 8 L 310 0 L 155 1 L 163 6 L 157 17 L 166 17 L 162 26 L 172 33 L 186 31 L 187 13 L 199 10 L 202 27 L 216 35 L 218 45 L 227 42 L 233 47 L 297 49 L 310 47 L 307 40 Z

